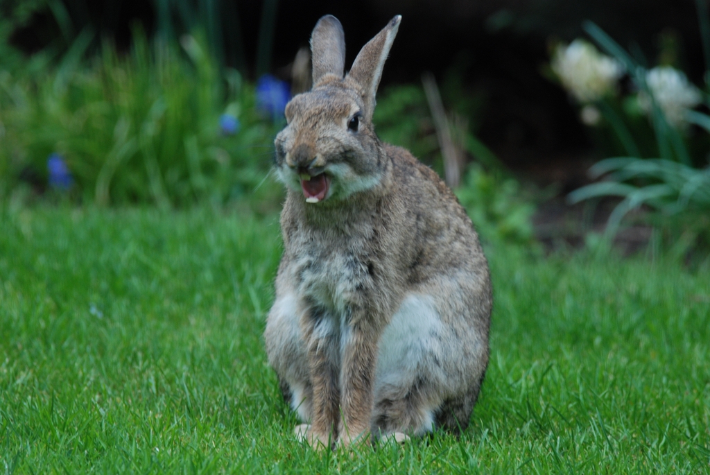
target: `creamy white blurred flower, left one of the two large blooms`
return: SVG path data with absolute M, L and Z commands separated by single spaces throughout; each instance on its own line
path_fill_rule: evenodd
M 593 102 L 611 92 L 623 75 L 623 67 L 618 61 L 602 55 L 594 45 L 579 39 L 566 47 L 558 46 L 551 66 L 564 88 L 583 103 Z

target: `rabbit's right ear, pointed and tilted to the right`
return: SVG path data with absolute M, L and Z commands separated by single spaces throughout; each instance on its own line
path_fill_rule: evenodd
M 377 33 L 375 38 L 372 38 L 364 45 L 348 73 L 348 77 L 355 80 L 361 87 L 366 109 L 364 116 L 367 119 L 372 119 L 375 109 L 375 94 L 382 77 L 382 67 L 385 65 L 387 55 L 390 53 L 390 48 L 392 48 L 392 42 L 397 35 L 401 20 L 401 15 L 392 18 L 390 23 L 380 33 Z

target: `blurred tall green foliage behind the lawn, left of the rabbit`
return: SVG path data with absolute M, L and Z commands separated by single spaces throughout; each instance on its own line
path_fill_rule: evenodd
M 1 72 L 0 195 L 17 190 L 19 178 L 42 190 L 53 153 L 82 202 L 168 207 L 253 194 L 271 166 L 275 126 L 258 114 L 239 72 L 222 77 L 203 36 L 183 36 L 180 53 L 137 32 L 125 58 L 104 43 L 84 67 L 86 38 L 57 67 Z M 222 131 L 224 113 L 238 119 L 238 133 Z M 276 201 L 277 188 L 258 195 Z

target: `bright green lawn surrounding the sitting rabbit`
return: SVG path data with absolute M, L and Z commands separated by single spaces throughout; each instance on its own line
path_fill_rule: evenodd
M 0 211 L 5 473 L 708 473 L 709 266 L 490 247 L 471 426 L 404 447 L 295 442 L 261 342 L 278 220 Z

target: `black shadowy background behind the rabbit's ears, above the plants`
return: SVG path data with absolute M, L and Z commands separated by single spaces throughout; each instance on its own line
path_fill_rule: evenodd
M 214 1 L 219 15 L 212 21 L 224 39 L 224 64 L 250 79 L 265 71 L 285 76 L 296 51 L 308 44 L 310 31 L 326 13 L 344 26 L 348 64 L 361 45 L 401 14 L 381 87 L 419 82 L 425 71 L 438 78 L 456 71 L 464 87 L 481 99 L 479 138 L 511 168 L 543 182 L 562 181 L 569 189 L 579 185 L 586 163 L 601 157 L 590 156 L 591 143 L 567 95 L 541 74 L 552 41 L 585 36 L 581 23 L 589 19 L 642 62 L 654 65 L 660 38 L 672 38 L 679 46 L 677 65 L 690 79 L 701 84 L 704 71 L 694 0 Z M 195 1 L 194 12 L 186 16 L 173 11 L 175 29 L 189 30 L 191 16 L 201 21 L 204 3 Z M 136 25 L 149 35 L 159 28 L 157 0 L 62 4 L 75 33 L 89 26 L 119 48 L 129 48 Z M 275 15 L 273 30 L 265 33 L 263 20 L 269 12 Z M 12 42 L 33 53 L 60 43 L 62 34 L 68 47 L 67 32 L 45 9 L 13 33 Z M 271 40 L 261 62 L 260 35 Z

